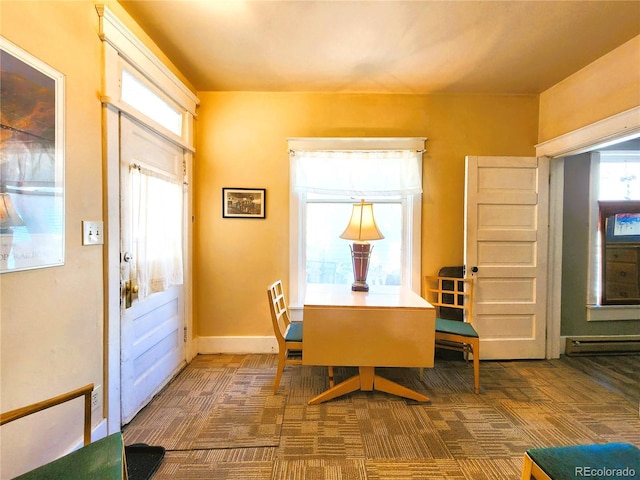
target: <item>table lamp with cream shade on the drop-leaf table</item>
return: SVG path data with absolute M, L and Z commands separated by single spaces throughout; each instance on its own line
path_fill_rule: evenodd
M 353 278 L 351 290 L 354 292 L 368 292 L 367 273 L 369 271 L 369 259 L 373 246 L 369 240 L 381 240 L 384 235 L 378 230 L 375 218 L 373 218 L 373 204 L 360 203 L 353 205 L 351 220 L 340 238 L 353 240 L 351 248 L 351 260 L 353 262 Z

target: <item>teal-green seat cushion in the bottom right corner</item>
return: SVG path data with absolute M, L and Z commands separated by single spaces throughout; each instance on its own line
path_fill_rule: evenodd
M 533 448 L 527 453 L 553 480 L 640 478 L 640 450 L 628 443 Z

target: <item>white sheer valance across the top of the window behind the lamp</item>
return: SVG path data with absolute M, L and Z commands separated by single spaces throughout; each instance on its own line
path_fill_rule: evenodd
M 413 150 L 296 150 L 297 192 L 390 196 L 422 193 L 422 152 Z

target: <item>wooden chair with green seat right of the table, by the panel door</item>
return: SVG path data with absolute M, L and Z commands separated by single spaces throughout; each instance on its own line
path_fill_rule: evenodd
M 480 393 L 480 337 L 471 324 L 473 279 L 426 276 L 425 298 L 437 308 L 436 348 L 463 352 L 465 359 L 469 358 L 469 354 L 473 355 L 475 392 Z M 464 321 L 441 318 L 443 309 L 461 311 Z

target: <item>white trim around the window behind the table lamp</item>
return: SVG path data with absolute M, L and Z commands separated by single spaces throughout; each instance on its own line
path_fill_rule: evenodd
M 424 150 L 425 137 L 400 138 L 290 138 L 287 139 L 289 150 Z M 420 165 L 422 167 L 422 165 Z M 422 174 L 422 168 L 421 168 Z M 306 195 L 296 193 L 293 185 L 295 179 L 295 162 L 291 162 L 290 197 L 289 197 L 289 310 L 292 319 L 300 320 L 305 292 L 300 291 L 300 279 L 304 277 L 303 240 L 300 232 L 306 231 Z M 421 221 L 422 195 L 403 196 L 401 202 L 406 209 L 407 216 L 403 225 L 405 232 L 402 252 L 404 265 L 403 282 L 410 280 L 409 286 L 420 294 L 420 261 L 421 261 Z M 411 218 L 411 221 L 409 221 Z M 414 226 L 415 228 L 412 228 Z M 411 258 L 406 258 L 407 251 L 411 251 Z

